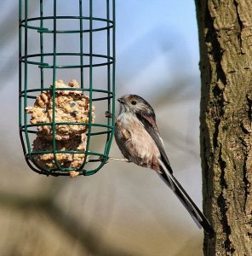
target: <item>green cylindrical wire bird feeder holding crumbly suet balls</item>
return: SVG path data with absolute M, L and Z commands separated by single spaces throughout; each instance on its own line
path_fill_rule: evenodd
M 114 132 L 115 0 L 20 0 L 19 4 L 19 127 L 26 163 L 47 176 L 69 176 L 72 171 L 92 175 L 106 164 Z M 78 86 L 59 87 L 71 79 Z M 74 94 L 88 102 L 87 119 L 59 121 L 62 91 L 65 98 Z M 51 100 L 51 119 L 32 122 L 28 109 L 35 109 L 41 97 Z M 47 111 L 38 110 L 41 115 Z M 106 111 L 112 115 L 106 117 Z M 85 127 L 85 131 L 65 134 L 68 138 L 59 141 L 59 127 Z M 46 129 L 47 139 L 39 137 L 39 131 Z M 84 148 L 65 146 L 83 137 Z M 71 160 L 62 164 L 60 157 L 66 155 L 82 161 L 77 166 Z M 51 158 L 51 166 L 41 165 L 38 157 L 43 156 Z

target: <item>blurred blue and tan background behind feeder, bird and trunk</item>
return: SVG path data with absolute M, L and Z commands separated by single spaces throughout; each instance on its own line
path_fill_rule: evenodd
M 67 10 L 76 1 L 61 2 Z M 194 3 L 116 4 L 117 96 L 139 94 L 151 103 L 175 177 L 202 207 Z M 0 255 L 203 255 L 203 230 L 151 170 L 111 161 L 93 176 L 70 178 L 26 166 L 18 130 L 18 1 L 0 7 Z M 121 157 L 114 142 L 111 155 Z

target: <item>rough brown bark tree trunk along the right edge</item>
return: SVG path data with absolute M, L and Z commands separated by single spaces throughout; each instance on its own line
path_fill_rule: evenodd
M 252 4 L 195 0 L 202 79 L 204 255 L 252 255 Z

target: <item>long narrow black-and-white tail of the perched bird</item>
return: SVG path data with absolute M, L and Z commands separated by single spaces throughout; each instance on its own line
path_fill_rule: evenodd
M 196 204 L 186 193 L 185 189 L 183 189 L 180 183 L 173 176 L 171 167 L 169 166 L 169 170 L 162 160 L 159 160 L 159 164 L 162 166 L 163 172 L 158 174 L 163 178 L 163 181 L 169 186 L 169 188 L 174 191 L 175 195 L 177 195 L 181 203 L 186 207 L 186 210 L 190 213 L 195 223 L 198 224 L 198 227 L 203 227 L 203 230 L 209 233 L 209 235 L 214 234 L 215 231 L 211 224 L 209 224 L 209 220 L 203 215 L 203 212 L 198 209 Z

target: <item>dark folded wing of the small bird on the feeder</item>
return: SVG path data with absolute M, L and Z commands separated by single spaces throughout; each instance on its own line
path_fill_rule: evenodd
M 158 126 L 156 125 L 155 119 L 148 115 L 142 115 L 137 114 L 138 119 L 142 122 L 142 124 L 145 126 L 146 131 L 151 135 L 152 139 L 158 146 L 158 149 L 161 154 L 161 160 L 163 160 L 163 163 L 167 167 L 170 173 L 173 173 L 171 166 L 169 164 L 169 159 L 167 154 L 165 153 L 164 147 L 163 147 L 163 140 L 159 136 Z

